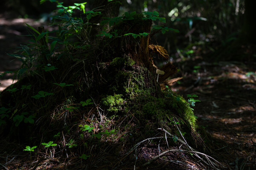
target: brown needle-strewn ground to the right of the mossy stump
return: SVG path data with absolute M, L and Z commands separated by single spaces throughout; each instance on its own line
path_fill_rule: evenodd
M 194 113 L 210 134 L 204 141 L 212 154 L 231 169 L 256 169 L 256 63 L 196 59 L 182 67 L 184 78 L 173 91 L 198 95 Z

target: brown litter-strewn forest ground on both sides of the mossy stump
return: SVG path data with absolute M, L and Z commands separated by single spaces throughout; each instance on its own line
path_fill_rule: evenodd
M 21 37 L 27 34 L 24 22 L 35 28 L 41 26 L 34 20 L 8 19 L 0 15 L 1 73 L 15 71 L 21 65 L 6 53 L 12 53 L 14 47 L 29 40 L 29 37 Z M 177 65 L 180 69 L 177 77 L 183 79 L 176 82 L 172 90 L 185 99 L 186 94 L 197 94 L 201 100 L 196 102 L 194 112 L 203 127 L 201 133 L 209 134 L 204 140 L 211 146 L 211 156 L 229 167 L 227 169 L 256 169 L 256 63 L 210 63 L 198 54 Z M 12 84 L 12 75 L 0 78 L 0 91 Z M 0 163 L 11 166 L 12 157 L 4 155 L 6 153 L 0 154 Z

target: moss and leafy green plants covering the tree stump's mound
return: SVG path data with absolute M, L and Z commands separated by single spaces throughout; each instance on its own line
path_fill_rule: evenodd
M 129 153 L 129 147 L 146 138 L 157 143 L 165 134 L 157 128 L 174 134 L 161 142 L 163 147 L 178 147 L 177 141 L 185 138 L 192 146 L 204 145 L 190 107 L 198 101 L 191 98 L 186 102 L 170 89 L 161 91 L 154 74 L 127 55 L 106 54 L 108 57 L 100 59 L 95 54 L 98 48 L 90 42 L 90 20 L 100 11 L 85 11 L 85 3 L 65 7 L 57 0 L 49 1 L 60 7 L 52 23 L 58 29 L 40 32 L 27 25 L 31 42 L 21 46 L 19 54 L 11 54 L 23 63 L 16 72 L 19 81 L 0 94 L 0 133 L 26 144 L 23 149 L 31 159 L 43 155 L 74 158 L 86 164 L 91 161 L 90 167 L 100 160 L 108 162 L 109 152 L 116 157 Z M 73 17 L 75 9 L 86 18 Z M 140 20 L 165 22 L 156 11 L 139 16 Z M 111 27 L 136 18 L 136 12 L 125 12 L 122 17 L 105 18 L 101 24 Z M 111 42 L 111 38 L 136 39 L 149 34 L 117 32 L 105 29 L 97 36 Z M 93 161 L 96 157 L 99 161 Z

